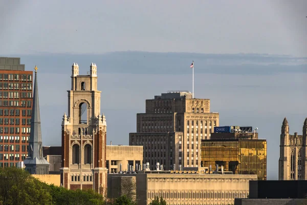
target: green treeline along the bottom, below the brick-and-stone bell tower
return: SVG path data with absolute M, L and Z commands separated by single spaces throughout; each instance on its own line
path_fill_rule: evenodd
M 114 200 L 103 198 L 93 190 L 67 190 L 47 185 L 23 169 L 0 168 L 0 205 L 136 205 L 135 199 L 120 196 Z M 150 205 L 166 205 L 156 198 Z

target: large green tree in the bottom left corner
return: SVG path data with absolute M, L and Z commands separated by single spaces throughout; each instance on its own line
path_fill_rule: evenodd
M 23 169 L 0 168 L 0 204 L 52 205 L 49 186 Z

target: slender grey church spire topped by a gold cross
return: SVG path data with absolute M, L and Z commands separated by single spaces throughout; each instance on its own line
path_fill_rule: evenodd
M 33 106 L 31 116 L 28 157 L 24 160 L 26 170 L 30 174 L 49 174 L 49 162 L 43 158 L 38 102 L 37 67 L 35 66 Z

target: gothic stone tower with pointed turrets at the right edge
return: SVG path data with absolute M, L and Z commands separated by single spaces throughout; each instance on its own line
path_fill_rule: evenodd
M 303 134 L 289 134 L 289 123 L 285 117 L 280 134 L 279 180 L 307 179 L 307 118 L 303 124 Z

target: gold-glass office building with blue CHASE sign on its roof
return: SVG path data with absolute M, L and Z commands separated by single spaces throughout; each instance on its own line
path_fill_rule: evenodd
M 255 132 L 241 131 L 212 133 L 213 136 L 214 139 L 202 140 L 202 167 L 221 170 L 223 166 L 224 171 L 233 174 L 256 174 L 258 180 L 267 179 L 266 139 L 258 139 Z

